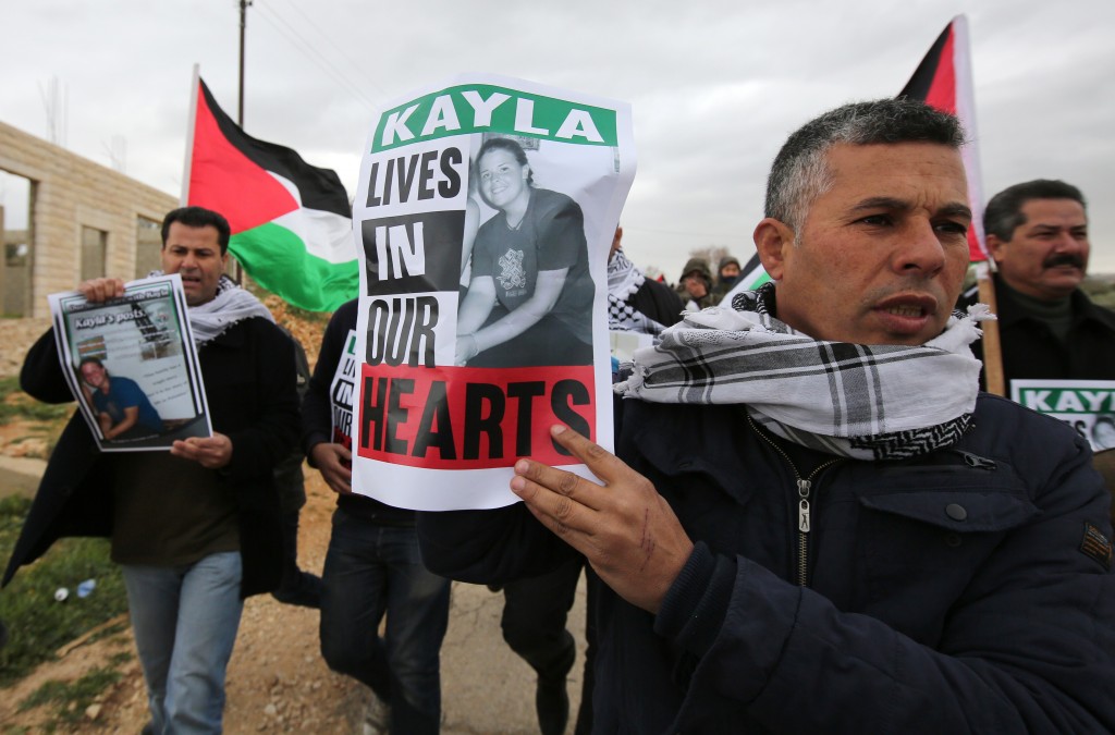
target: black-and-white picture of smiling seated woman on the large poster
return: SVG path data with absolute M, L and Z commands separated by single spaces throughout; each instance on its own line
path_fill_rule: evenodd
M 473 245 L 456 364 L 591 365 L 593 284 L 580 205 L 536 188 L 526 153 L 510 138 L 481 146 L 475 174 L 496 214 Z

